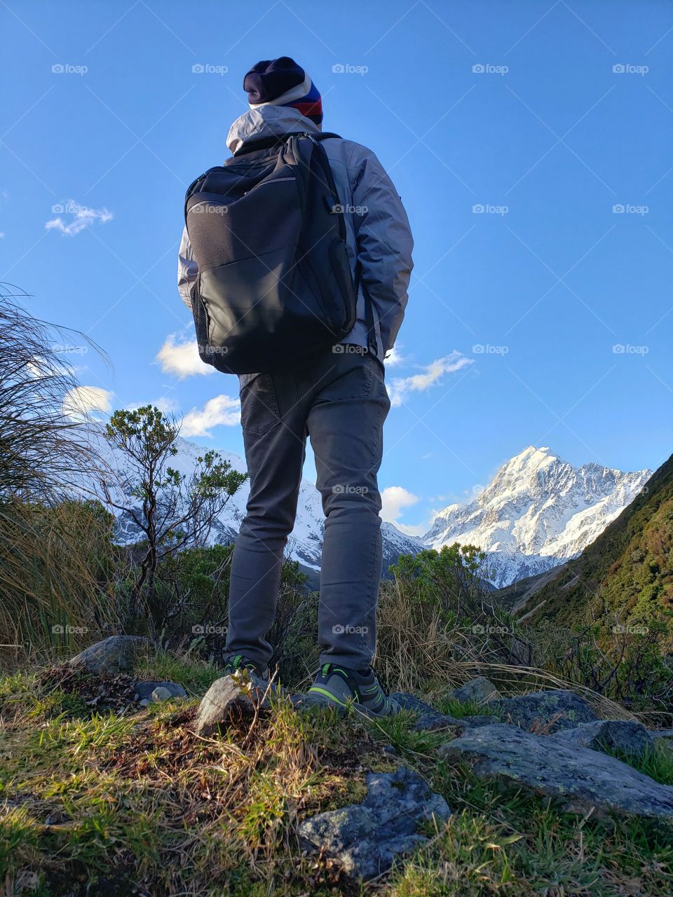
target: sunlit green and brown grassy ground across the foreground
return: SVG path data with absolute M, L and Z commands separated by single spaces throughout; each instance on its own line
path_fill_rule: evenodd
M 193 694 L 216 675 L 167 656 L 143 672 L 187 684 Z M 50 691 L 39 677 L 13 675 L 0 679 L 0 701 L 5 893 L 79 895 L 90 880 L 91 893 L 122 895 L 138 885 L 157 897 L 673 892 L 670 825 L 583 820 L 481 782 L 468 765 L 438 760 L 437 747 L 455 730 L 415 732 L 412 713 L 373 721 L 331 709 L 298 714 L 277 698 L 251 729 L 199 739 L 191 734 L 196 698 L 98 712 L 78 708 L 73 694 Z M 48 712 L 40 715 L 40 707 Z M 671 784 L 671 753 L 661 747 L 634 765 Z M 333 863 L 302 857 L 298 820 L 358 802 L 367 771 L 400 763 L 419 771 L 453 812 L 449 823 L 424 825 L 423 849 L 363 888 Z

